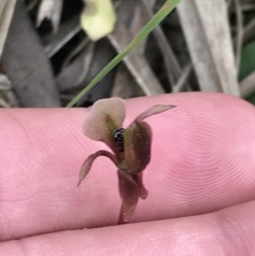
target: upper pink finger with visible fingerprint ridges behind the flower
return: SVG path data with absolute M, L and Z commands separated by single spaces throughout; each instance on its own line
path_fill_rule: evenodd
M 127 100 L 125 126 L 152 105 L 176 108 L 146 119 L 152 157 L 146 200 L 133 222 L 209 213 L 255 199 L 255 111 L 224 94 L 166 94 Z M 84 109 L 0 111 L 0 240 L 116 225 L 116 168 L 86 157 L 106 145 L 82 135 Z

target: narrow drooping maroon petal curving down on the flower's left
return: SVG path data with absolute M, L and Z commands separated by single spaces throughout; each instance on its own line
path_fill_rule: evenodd
M 88 158 L 82 163 L 82 168 L 80 171 L 80 177 L 78 185 L 81 185 L 82 180 L 85 179 L 85 177 L 88 175 L 88 172 L 90 171 L 90 168 L 94 162 L 94 160 L 99 156 L 106 156 L 111 159 L 112 162 L 114 162 L 117 165 L 116 156 L 111 154 L 108 151 L 97 151 L 94 154 L 88 156 Z

